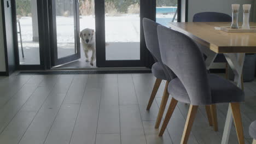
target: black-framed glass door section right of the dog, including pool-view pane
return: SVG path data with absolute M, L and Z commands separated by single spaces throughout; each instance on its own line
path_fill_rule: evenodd
M 95 2 L 98 67 L 149 66 L 153 58 L 150 58 L 144 41 L 143 17 L 167 27 L 169 22 L 179 19 L 179 0 Z

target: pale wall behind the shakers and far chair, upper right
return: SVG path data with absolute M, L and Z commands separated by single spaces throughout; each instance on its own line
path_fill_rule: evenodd
M 234 3 L 240 4 L 239 21 L 242 21 L 243 17 L 242 4 L 252 4 L 252 20 L 254 0 L 188 0 L 188 21 L 193 20 L 194 14 L 205 11 L 215 11 L 231 15 L 231 4 Z

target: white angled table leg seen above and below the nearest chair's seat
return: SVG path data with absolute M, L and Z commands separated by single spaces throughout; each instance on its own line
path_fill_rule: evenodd
M 232 71 L 235 74 L 234 82 L 237 87 L 241 88 L 241 75 L 243 69 L 243 63 L 245 62 L 245 53 L 224 53 L 226 60 L 228 61 Z M 230 130 L 232 126 L 233 116 L 231 107 L 229 105 L 228 113 L 226 115 L 226 122 L 222 136 L 222 144 L 228 144 Z

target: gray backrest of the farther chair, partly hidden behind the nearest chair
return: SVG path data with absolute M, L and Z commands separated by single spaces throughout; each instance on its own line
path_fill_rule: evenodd
M 146 46 L 150 51 L 150 53 L 152 54 L 152 56 L 156 59 L 156 61 L 160 63 L 167 77 L 167 81 L 170 81 L 174 79 L 176 76 L 173 74 L 173 72 L 170 69 L 168 69 L 162 63 L 160 50 L 159 50 L 159 42 L 158 42 L 158 31 L 157 31 L 158 25 L 160 24 L 150 19 L 143 18 L 143 29 L 144 29 Z

